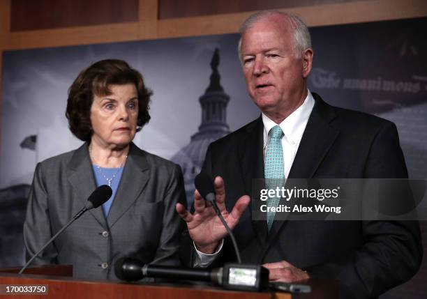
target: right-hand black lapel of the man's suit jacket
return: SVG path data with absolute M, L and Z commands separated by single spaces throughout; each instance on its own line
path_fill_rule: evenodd
M 313 93 L 313 98 L 315 98 L 315 106 L 310 118 L 308 118 L 306 130 L 304 130 L 288 178 L 312 178 L 339 133 L 338 128 L 331 125 L 331 122 L 336 118 L 334 109 L 327 105 L 316 93 Z M 271 245 L 286 222 L 273 222 L 268 236 L 269 245 Z M 264 254 L 267 252 L 269 245 L 266 247 Z

